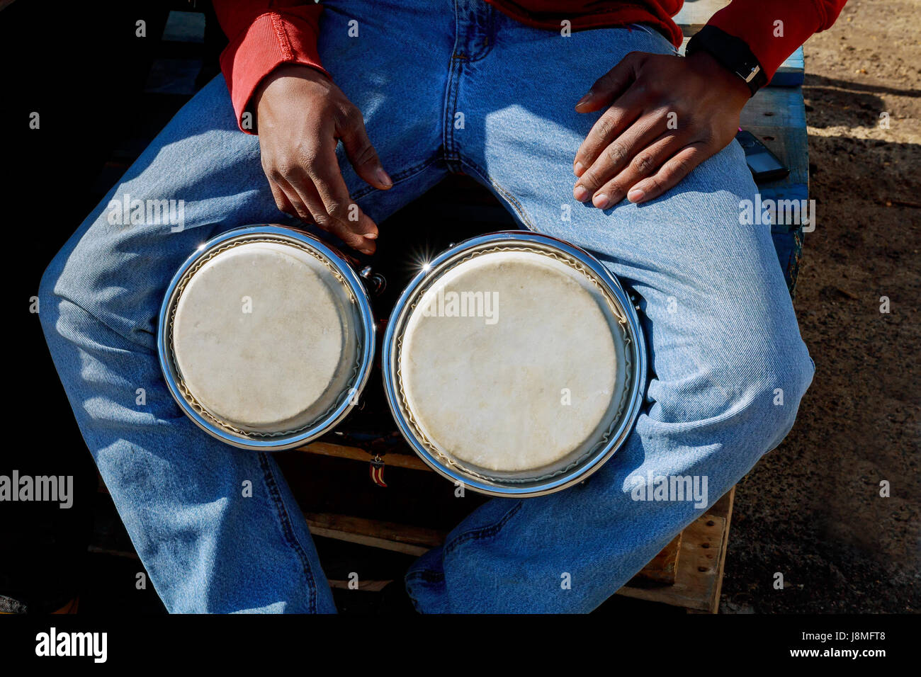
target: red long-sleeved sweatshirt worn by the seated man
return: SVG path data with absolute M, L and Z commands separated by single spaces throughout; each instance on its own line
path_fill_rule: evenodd
M 559 30 L 563 19 L 574 30 L 647 23 L 670 36 L 675 47 L 682 43 L 682 31 L 671 17 L 683 0 L 485 2 L 537 28 Z M 214 0 L 214 6 L 230 41 L 221 54 L 221 70 L 238 122 L 262 78 L 279 64 L 305 64 L 326 72 L 317 53 L 321 5 L 311 0 Z M 734 0 L 708 23 L 745 41 L 770 79 L 812 33 L 831 27 L 843 6 L 845 0 Z M 777 21 L 783 22 L 781 35 Z

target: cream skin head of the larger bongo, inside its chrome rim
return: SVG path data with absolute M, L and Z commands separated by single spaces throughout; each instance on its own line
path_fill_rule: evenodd
M 553 475 L 602 444 L 624 401 L 624 329 L 565 258 L 499 247 L 414 302 L 399 351 L 417 434 L 474 474 Z

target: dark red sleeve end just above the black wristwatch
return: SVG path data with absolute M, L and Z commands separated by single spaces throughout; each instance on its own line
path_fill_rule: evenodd
M 745 41 L 770 80 L 810 36 L 829 28 L 845 0 L 734 0 L 707 22 Z

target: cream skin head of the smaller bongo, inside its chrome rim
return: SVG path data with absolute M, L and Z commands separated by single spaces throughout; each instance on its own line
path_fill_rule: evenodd
M 183 397 L 241 435 L 288 435 L 348 396 L 359 368 L 352 290 L 319 251 L 281 238 L 205 251 L 181 280 L 169 347 Z

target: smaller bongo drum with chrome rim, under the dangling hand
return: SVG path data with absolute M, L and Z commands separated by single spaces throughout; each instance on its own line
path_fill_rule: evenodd
M 206 242 L 173 277 L 157 352 L 192 421 L 244 449 L 289 449 L 332 429 L 373 363 L 365 286 L 344 256 L 296 228 Z

